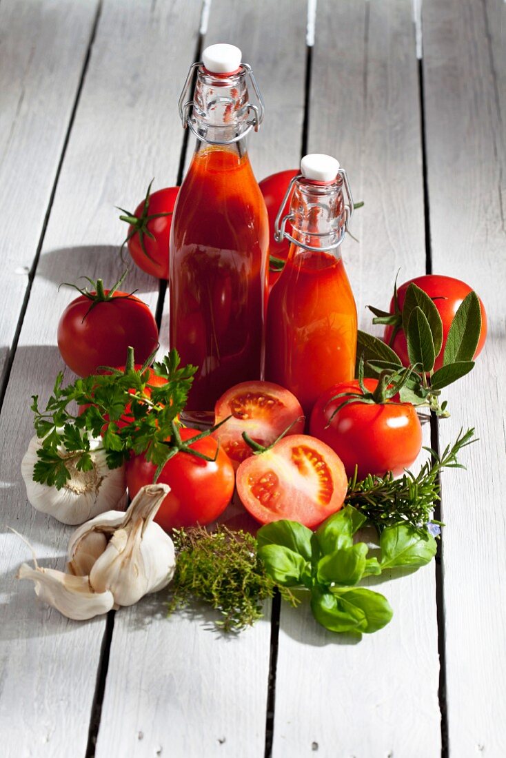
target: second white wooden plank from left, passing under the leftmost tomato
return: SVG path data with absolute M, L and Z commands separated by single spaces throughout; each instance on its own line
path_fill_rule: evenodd
M 200 15 L 196 5 L 183 16 L 183 5 L 140 8 L 116 0 L 102 7 L 0 422 L 3 523 L 33 542 L 42 565 L 64 565 L 71 528 L 33 512 L 19 465 L 32 434 L 30 395 L 47 397 L 61 368 L 56 326 L 75 293 L 58 293 L 57 284 L 80 274 L 102 276 L 105 282 L 117 277 L 124 229 L 114 204 L 133 208 L 152 176 L 157 186 L 174 183 L 182 140 L 180 128 L 171 126 L 171 110 Z M 151 50 L 150 64 L 146 50 Z M 168 72 L 174 74 L 172 90 Z M 136 273 L 128 285 L 156 304 L 156 280 Z M 14 581 L 17 566 L 30 553 L 11 533 L 2 534 L 1 554 L 10 600 L 2 607 L 1 632 L 0 723 L 7 753 L 58 758 L 71 750 L 83 755 L 105 621 L 68 622 L 37 603 L 33 587 Z

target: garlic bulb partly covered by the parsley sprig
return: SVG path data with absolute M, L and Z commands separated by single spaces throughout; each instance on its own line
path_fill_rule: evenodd
M 58 453 L 66 459 L 71 478 L 57 490 L 49 484 L 33 481 L 33 468 L 39 460 L 37 450 L 42 447 L 42 440 L 32 437 L 21 462 L 28 501 L 38 511 L 71 525 L 82 524 L 109 509 L 124 507 L 127 489 L 124 466 L 108 468 L 105 450 L 101 446 L 101 439 L 90 437 L 91 471 L 79 471 L 73 463 L 73 453 L 60 446 Z

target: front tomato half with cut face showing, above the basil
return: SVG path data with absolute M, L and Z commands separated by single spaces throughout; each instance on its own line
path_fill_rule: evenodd
M 261 524 L 289 518 L 312 528 L 342 507 L 347 477 L 332 448 L 292 434 L 241 463 L 236 485 L 241 503 Z

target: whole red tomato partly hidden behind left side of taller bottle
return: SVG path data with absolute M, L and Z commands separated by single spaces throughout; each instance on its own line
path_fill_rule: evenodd
M 179 187 L 165 187 L 150 193 L 135 209 L 124 211 L 121 221 L 127 221 L 127 243 L 130 255 L 139 268 L 159 279 L 168 279 L 168 241 L 171 236 L 172 213 Z

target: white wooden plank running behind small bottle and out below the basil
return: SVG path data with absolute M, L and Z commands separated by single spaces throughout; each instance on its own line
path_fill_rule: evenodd
M 416 48 L 410 4 L 319 0 L 309 148 L 347 168 L 360 244 L 344 243 L 361 327 L 395 273 L 425 272 Z M 426 431 L 426 439 L 428 431 Z M 281 606 L 274 756 L 435 756 L 440 750 L 434 565 L 382 582 L 394 618 L 358 644 Z M 318 751 L 318 752 L 316 752 Z

